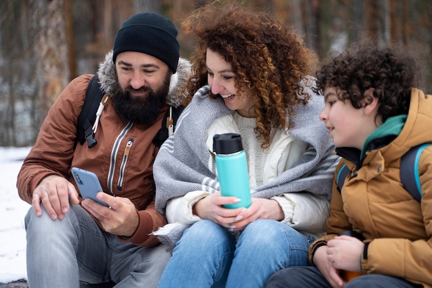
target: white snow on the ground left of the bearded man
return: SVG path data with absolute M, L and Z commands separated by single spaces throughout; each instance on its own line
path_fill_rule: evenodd
M 0 147 L 0 283 L 27 279 L 24 216 L 30 204 L 18 196 L 17 175 L 29 151 Z

